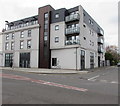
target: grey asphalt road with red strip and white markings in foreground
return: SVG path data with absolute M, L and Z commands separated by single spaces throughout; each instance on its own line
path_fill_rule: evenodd
M 3 104 L 118 104 L 118 68 L 87 74 L 2 70 Z

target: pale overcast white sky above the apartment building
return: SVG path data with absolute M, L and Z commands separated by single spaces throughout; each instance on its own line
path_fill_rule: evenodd
M 118 46 L 118 0 L 0 0 L 0 32 L 5 21 L 37 15 L 38 8 L 48 4 L 54 9 L 81 5 L 103 28 L 105 45 Z

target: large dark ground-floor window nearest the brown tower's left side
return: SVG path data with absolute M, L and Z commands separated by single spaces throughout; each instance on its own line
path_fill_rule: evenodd
M 20 53 L 20 67 L 30 68 L 30 53 Z

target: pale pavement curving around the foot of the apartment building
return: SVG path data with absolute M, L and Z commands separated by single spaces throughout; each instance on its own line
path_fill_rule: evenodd
M 86 74 L 89 72 L 100 71 L 101 69 L 106 69 L 106 68 L 109 67 L 101 67 L 101 68 L 86 69 L 86 70 L 0 67 L 1 70 L 21 71 L 21 72 L 29 72 L 36 74 Z

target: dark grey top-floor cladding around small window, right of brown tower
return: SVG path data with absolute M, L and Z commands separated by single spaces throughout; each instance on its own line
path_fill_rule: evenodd
M 61 22 L 65 20 L 65 8 L 51 11 L 51 23 Z M 55 15 L 59 14 L 59 18 L 55 18 Z

